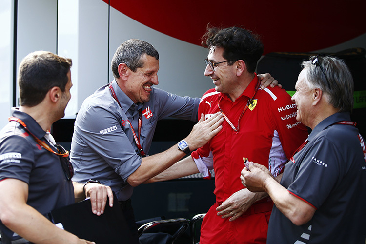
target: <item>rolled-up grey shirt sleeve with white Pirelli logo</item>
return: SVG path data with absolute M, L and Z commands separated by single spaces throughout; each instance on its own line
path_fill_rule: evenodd
M 78 154 L 81 154 L 77 144 L 86 143 L 91 152 L 86 150 L 82 152 L 84 160 L 89 156 L 92 161 L 97 160 L 95 158 L 97 153 L 126 181 L 129 175 L 140 166 L 141 158 L 136 154 L 132 146 L 133 142 L 130 142 L 122 128 L 122 119 L 111 110 L 92 106 L 85 111 L 83 117 L 78 117 L 77 120 L 79 121 L 75 123 L 77 128 L 72 145 L 73 157 L 77 158 Z M 124 126 L 124 129 L 128 129 L 128 124 L 125 125 L 127 126 Z M 100 169 L 94 170 L 102 170 L 104 166 L 100 166 Z

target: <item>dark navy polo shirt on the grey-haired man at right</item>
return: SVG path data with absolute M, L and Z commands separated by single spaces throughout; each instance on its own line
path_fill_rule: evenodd
M 355 126 L 334 124 L 341 121 L 350 121 L 349 113 L 336 113 L 320 122 L 305 147 L 285 165 L 281 185 L 316 208 L 313 218 L 296 226 L 274 206 L 267 244 L 365 244 L 362 139 Z

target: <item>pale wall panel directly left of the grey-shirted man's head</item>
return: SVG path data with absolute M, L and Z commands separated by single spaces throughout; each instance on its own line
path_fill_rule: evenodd
M 108 4 L 79 0 L 78 108 L 108 83 Z

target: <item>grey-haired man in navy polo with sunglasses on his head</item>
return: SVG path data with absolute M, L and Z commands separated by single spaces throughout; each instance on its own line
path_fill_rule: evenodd
M 242 183 L 275 203 L 267 244 L 365 244 L 366 149 L 350 121 L 352 76 L 332 57 L 311 57 L 302 65 L 292 100 L 296 119 L 311 134 L 285 165 L 281 183 L 252 162 Z

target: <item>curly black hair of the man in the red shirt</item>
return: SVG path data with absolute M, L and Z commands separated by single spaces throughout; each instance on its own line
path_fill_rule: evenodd
M 207 32 L 203 35 L 201 44 L 209 49 L 224 48 L 223 57 L 229 61 L 228 64 L 243 60 L 249 73 L 254 73 L 263 54 L 263 44 L 259 36 L 235 26 L 220 29 L 207 25 Z

